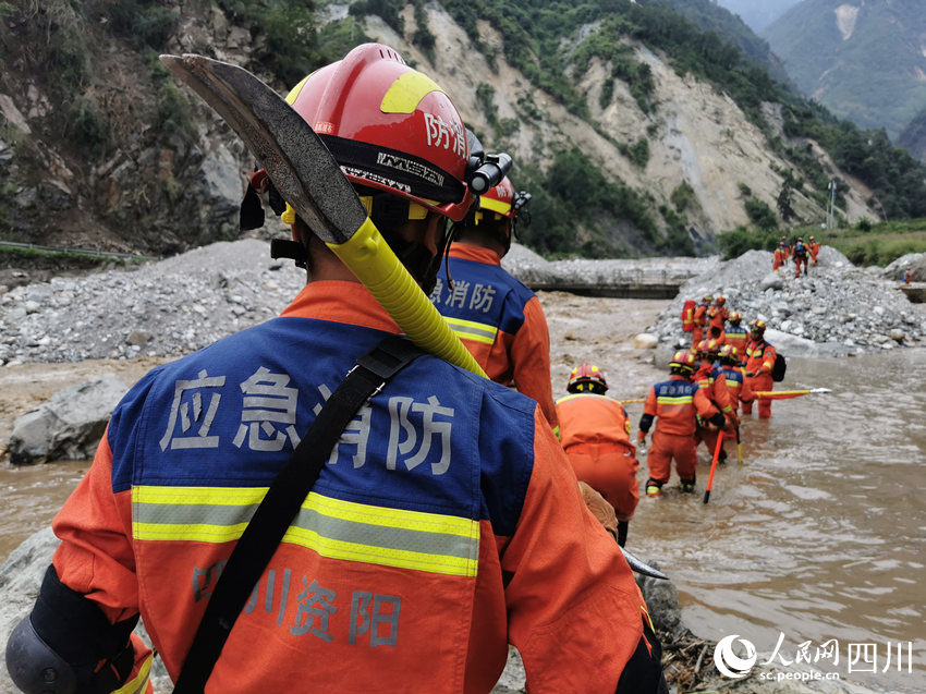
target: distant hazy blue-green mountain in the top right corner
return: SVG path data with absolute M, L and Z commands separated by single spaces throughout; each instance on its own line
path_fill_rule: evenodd
M 922 0 L 803 0 L 764 32 L 797 87 L 895 137 L 926 106 Z

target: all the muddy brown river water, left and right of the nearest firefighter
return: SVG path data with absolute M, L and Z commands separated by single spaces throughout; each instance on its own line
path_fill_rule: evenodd
M 617 399 L 641 398 L 663 378 L 647 361 L 651 352 L 631 340 L 668 302 L 560 292 L 540 297 L 557 397 L 583 360 L 605 369 Z M 107 368 L 133 382 L 150 365 L 0 368 L 3 442 L 16 410 L 11 403 L 34 406 Z M 735 443 L 728 445 L 730 459 L 718 468 L 708 504 L 704 448 L 694 496 L 678 492 L 673 473 L 662 498 L 641 499 L 628 548 L 671 576 L 695 633 L 747 640 L 759 662 L 772 653 L 779 665 L 809 660 L 839 679 L 832 691 L 844 691 L 840 682 L 926 691 L 925 374 L 923 349 L 792 357 L 780 388 L 832 392 L 776 401 L 770 421 L 745 421 L 743 462 Z M 635 424 L 642 404 L 628 410 Z M 645 456 L 641 463 L 642 485 Z M 50 522 L 87 465 L 13 470 L 3 461 L 0 560 Z

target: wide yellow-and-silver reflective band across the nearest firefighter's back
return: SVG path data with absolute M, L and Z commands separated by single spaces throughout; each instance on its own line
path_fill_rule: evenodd
M 266 487 L 134 487 L 133 536 L 149 541 L 234 541 L 266 494 Z M 479 523 L 312 492 L 283 541 L 332 559 L 474 576 Z

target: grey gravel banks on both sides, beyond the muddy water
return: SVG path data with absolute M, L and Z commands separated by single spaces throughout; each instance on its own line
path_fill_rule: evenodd
M 514 245 L 503 265 L 546 287 L 678 283 L 675 300 L 648 327 L 672 346 L 683 337 L 684 301 L 723 294 L 745 322 L 763 317 L 784 334 L 789 353 L 813 356 L 926 342 L 926 320 L 895 279 L 918 260 L 862 269 L 825 246 L 809 276 L 795 278 L 793 266 L 771 273 L 764 251 L 726 263 L 716 256 L 550 263 Z M 243 239 L 138 267 L 0 284 L 0 364 L 180 356 L 277 315 L 303 282 L 291 261 L 270 258 L 266 241 Z

